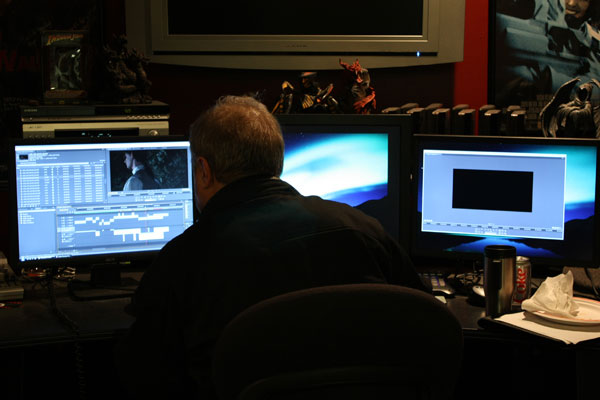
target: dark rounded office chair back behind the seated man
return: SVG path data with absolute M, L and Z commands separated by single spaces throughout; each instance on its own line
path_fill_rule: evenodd
M 299 290 L 224 329 L 213 358 L 222 400 L 447 399 L 460 323 L 433 296 L 387 284 Z

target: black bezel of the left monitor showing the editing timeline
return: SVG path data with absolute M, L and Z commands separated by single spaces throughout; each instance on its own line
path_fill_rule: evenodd
M 93 265 L 143 265 L 151 262 L 160 250 L 131 251 L 123 253 L 107 253 L 97 255 L 78 255 L 64 258 L 47 258 L 38 260 L 20 260 L 18 233 L 18 205 L 16 179 L 16 146 L 22 145 L 61 145 L 61 144 L 101 144 L 101 143 L 159 143 L 159 142 L 189 142 L 184 135 L 157 136 L 102 136 L 102 137 L 70 137 L 70 138 L 13 138 L 9 140 L 8 155 L 8 188 L 9 188 L 9 262 L 16 270 L 30 268 L 56 267 L 91 267 Z M 192 188 L 193 193 L 193 188 Z M 194 207 L 194 214 L 196 209 Z M 195 215 L 194 215 L 195 220 Z

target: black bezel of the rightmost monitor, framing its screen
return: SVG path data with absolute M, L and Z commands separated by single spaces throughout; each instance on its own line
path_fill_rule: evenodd
M 420 219 L 418 210 L 419 196 L 419 176 L 418 168 L 422 165 L 422 152 L 420 149 L 427 141 L 430 142 L 448 142 L 448 143 L 523 143 L 539 145 L 578 145 L 593 147 L 596 149 L 596 203 L 595 215 L 600 213 L 600 188 L 598 185 L 600 173 L 600 140 L 584 138 L 547 138 L 547 137 L 525 137 L 525 136 L 479 136 L 479 135 L 428 135 L 416 134 L 413 136 L 412 159 L 411 159 L 411 198 L 410 198 L 410 254 L 418 265 L 461 265 L 463 262 L 481 262 L 483 255 L 471 252 L 450 252 L 439 249 L 423 248 L 419 246 L 418 234 L 420 233 Z M 548 267 L 600 267 L 600 220 L 596 219 L 594 226 L 593 256 L 590 260 L 581 260 L 575 258 L 549 258 L 549 257 L 530 257 L 532 264 Z

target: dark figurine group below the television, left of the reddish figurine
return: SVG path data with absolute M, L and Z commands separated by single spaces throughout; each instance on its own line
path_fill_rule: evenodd
M 333 84 L 321 88 L 316 79 L 316 72 L 303 72 L 300 74 L 300 89 L 296 89 L 290 82 L 281 84 L 279 100 L 272 109 L 273 114 L 296 113 L 337 113 L 339 105 L 332 96 Z

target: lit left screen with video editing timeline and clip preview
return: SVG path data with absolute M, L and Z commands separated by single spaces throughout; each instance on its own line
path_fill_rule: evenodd
M 18 261 L 160 250 L 193 223 L 190 157 L 183 140 L 16 144 Z

